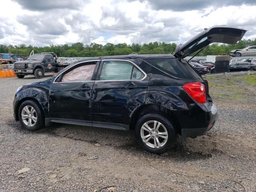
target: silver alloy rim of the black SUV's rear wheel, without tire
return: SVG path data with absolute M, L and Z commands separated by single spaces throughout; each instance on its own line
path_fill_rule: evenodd
M 168 132 L 165 126 L 158 121 L 147 121 L 140 129 L 140 136 L 144 144 L 151 148 L 159 148 L 166 144 Z

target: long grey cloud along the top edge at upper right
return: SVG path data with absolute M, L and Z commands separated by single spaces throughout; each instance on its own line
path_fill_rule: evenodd
M 133 0 L 130 0 L 133 1 Z M 256 5 L 255 0 L 140 0 L 147 2 L 155 10 L 188 11 L 207 7 Z

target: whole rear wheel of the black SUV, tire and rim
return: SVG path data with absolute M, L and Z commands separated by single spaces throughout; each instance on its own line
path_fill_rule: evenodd
M 135 137 L 138 144 L 147 152 L 163 154 L 173 147 L 176 131 L 164 116 L 146 114 L 136 123 Z

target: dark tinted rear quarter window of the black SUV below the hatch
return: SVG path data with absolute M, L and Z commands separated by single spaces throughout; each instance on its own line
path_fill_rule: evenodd
M 176 58 L 173 58 L 150 59 L 145 61 L 151 64 L 152 66 L 158 68 L 159 70 L 177 78 L 192 80 L 200 78 L 200 76 L 192 69 L 192 67 L 185 60 L 182 60 L 182 62 L 180 62 Z

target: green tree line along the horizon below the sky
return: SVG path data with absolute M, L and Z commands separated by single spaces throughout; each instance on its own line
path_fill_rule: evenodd
M 198 56 L 229 54 L 231 50 L 242 49 L 247 46 L 256 45 L 254 40 L 240 40 L 237 44 L 211 44 L 206 46 Z M 148 44 L 126 43 L 112 44 L 83 44 L 81 42 L 72 45 L 50 45 L 44 47 L 21 45 L 0 45 L 0 53 L 19 54 L 22 57 L 28 57 L 30 52 L 54 52 L 58 57 L 95 57 L 110 55 L 128 55 L 128 54 L 172 54 L 176 44 L 165 42 L 150 42 Z

